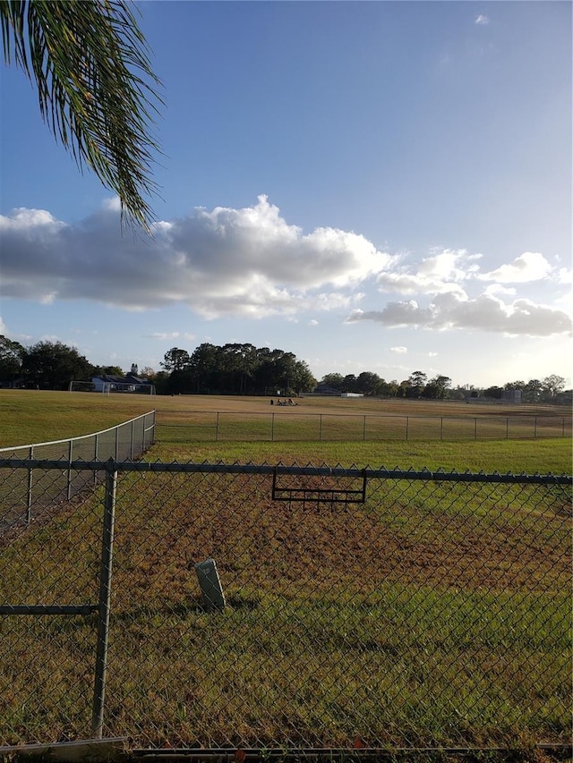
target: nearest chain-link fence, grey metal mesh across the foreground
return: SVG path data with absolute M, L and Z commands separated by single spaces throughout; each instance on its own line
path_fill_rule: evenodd
M 0 461 L 0 744 L 569 742 L 571 477 L 71 468 Z

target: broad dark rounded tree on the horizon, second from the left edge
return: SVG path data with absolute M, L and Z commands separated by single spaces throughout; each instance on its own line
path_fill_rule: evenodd
M 71 381 L 91 378 L 94 367 L 75 347 L 61 342 L 38 342 L 26 348 L 21 372 L 27 384 L 65 389 Z

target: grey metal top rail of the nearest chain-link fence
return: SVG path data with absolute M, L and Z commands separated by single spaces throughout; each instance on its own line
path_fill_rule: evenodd
M 569 485 L 573 487 L 573 476 L 568 474 L 500 474 L 497 471 L 486 474 L 483 471 L 430 471 L 429 469 L 372 469 L 367 466 L 358 467 L 334 466 L 286 466 L 269 463 L 180 463 L 171 462 L 134 462 L 115 461 L 68 461 L 68 459 L 15 459 L 0 458 L 0 469 L 43 469 L 43 470 L 72 470 L 72 471 L 151 471 L 187 474 L 260 474 L 286 476 L 321 476 L 321 477 L 350 477 L 366 479 L 423 479 L 443 482 L 505 482 L 519 485 Z

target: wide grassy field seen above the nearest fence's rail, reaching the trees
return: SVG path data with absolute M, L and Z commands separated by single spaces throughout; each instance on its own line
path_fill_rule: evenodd
M 166 461 L 571 471 L 570 406 L 370 398 L 295 402 L 283 407 L 262 397 L 0 390 L 0 447 L 88 435 L 156 409 L 152 457 Z

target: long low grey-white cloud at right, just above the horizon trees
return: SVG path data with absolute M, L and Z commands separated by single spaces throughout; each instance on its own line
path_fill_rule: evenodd
M 550 336 L 571 332 L 571 318 L 560 309 L 519 299 L 506 304 L 492 294 L 462 300 L 456 294 L 437 294 L 426 308 L 415 300 L 389 302 L 384 309 L 355 309 L 349 323 L 372 320 L 384 326 L 491 331 L 508 335 Z

